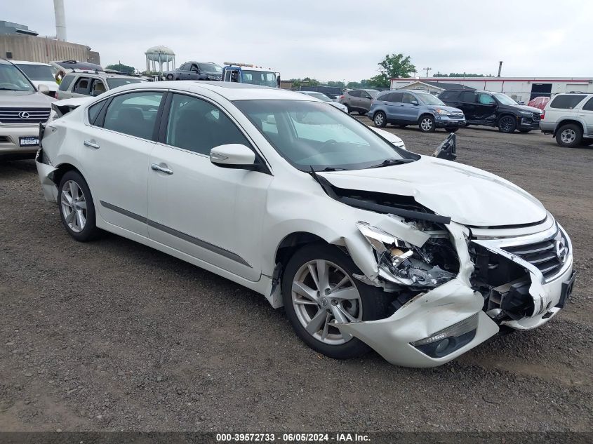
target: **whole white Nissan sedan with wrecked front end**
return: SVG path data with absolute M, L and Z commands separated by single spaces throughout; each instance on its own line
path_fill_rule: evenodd
M 41 128 L 36 165 L 77 241 L 111 231 L 260 292 L 326 356 L 430 367 L 554 317 L 573 251 L 542 204 L 382 135 L 275 88 L 136 83 Z

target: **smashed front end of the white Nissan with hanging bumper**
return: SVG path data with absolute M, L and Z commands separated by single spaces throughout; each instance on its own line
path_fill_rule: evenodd
M 376 321 L 336 326 L 390 363 L 441 365 L 502 326 L 523 330 L 545 323 L 570 295 L 572 247 L 551 215 L 527 226 L 479 229 L 435 215 L 412 197 L 318 180 L 333 199 L 374 214 L 356 223 L 365 255 L 358 238 L 344 241 L 363 271 L 354 277 L 382 288 L 390 311 Z

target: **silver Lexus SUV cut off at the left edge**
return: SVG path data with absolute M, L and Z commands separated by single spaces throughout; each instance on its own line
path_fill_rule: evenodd
M 13 63 L 0 59 L 0 160 L 34 158 L 39 123 L 48 121 L 53 101 Z

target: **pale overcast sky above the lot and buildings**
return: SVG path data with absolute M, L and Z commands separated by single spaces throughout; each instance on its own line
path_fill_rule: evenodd
M 387 53 L 420 70 L 593 76 L 593 1 L 65 0 L 68 41 L 103 66 L 145 69 L 165 45 L 187 60 L 255 63 L 283 79 L 358 81 Z M 52 0 L 2 0 L 0 20 L 55 35 Z

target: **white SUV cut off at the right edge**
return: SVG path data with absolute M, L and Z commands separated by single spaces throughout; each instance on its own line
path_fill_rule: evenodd
M 566 93 L 550 100 L 540 130 L 552 134 L 561 147 L 593 144 L 593 94 Z

